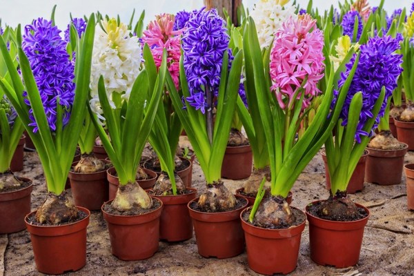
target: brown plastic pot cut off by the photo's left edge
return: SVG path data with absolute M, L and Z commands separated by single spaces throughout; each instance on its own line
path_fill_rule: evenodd
M 19 177 L 30 182 L 30 186 L 8 193 L 0 193 L 0 234 L 19 232 L 26 228 L 24 217 L 30 213 L 32 180 Z

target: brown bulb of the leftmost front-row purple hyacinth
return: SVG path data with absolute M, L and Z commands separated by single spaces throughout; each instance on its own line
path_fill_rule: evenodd
M 76 219 L 77 213 L 78 209 L 66 197 L 66 192 L 61 195 L 48 193 L 46 200 L 37 209 L 36 219 L 41 224 L 61 224 Z

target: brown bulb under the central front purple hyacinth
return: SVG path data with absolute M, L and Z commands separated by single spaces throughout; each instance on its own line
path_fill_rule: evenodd
M 200 196 L 198 201 L 201 210 L 225 212 L 235 208 L 236 197 L 224 186 L 223 182 L 208 184 L 207 192 Z

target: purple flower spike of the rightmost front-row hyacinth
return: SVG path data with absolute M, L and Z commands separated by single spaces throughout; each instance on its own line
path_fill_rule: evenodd
M 382 87 L 385 87 L 385 98 L 382 103 L 381 110 L 375 118 L 373 130 L 380 122 L 380 117 L 384 116 L 388 97 L 393 95 L 393 90 L 397 87 L 397 79 L 402 72 L 402 55 L 395 54 L 395 50 L 400 49 L 401 34 L 397 34 L 396 38 L 391 36 L 372 37 L 368 42 L 360 47 L 360 57 L 355 76 L 348 90 L 348 95 L 341 112 L 342 126 L 348 123 L 349 106 L 353 96 L 362 92 L 362 110 L 359 115 L 355 140 L 361 142 L 362 136 L 372 135 L 364 131 L 364 125 L 368 119 L 373 117 L 371 110 L 375 106 L 375 102 L 380 97 Z M 342 87 L 348 77 L 349 72 L 355 63 L 356 54 L 346 64 L 346 71 L 342 73 L 338 86 Z M 338 91 L 335 90 L 332 107 L 335 106 Z

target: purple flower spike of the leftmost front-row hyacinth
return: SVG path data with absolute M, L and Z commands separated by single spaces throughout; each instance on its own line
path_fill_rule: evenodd
M 63 126 L 66 126 L 75 99 L 74 65 L 70 62 L 60 32 L 56 26 L 52 26 L 52 21 L 39 18 L 25 27 L 22 42 L 52 131 L 56 130 L 57 104 L 63 109 Z M 27 92 L 23 96 L 26 97 Z M 28 99 L 25 101 L 30 106 Z M 29 117 L 32 121 L 29 126 L 33 126 L 33 132 L 37 132 L 32 108 Z

